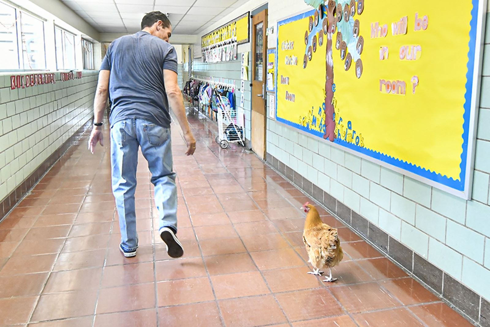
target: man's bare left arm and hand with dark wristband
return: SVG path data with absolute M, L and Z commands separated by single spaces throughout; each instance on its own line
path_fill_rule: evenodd
M 97 90 L 94 99 L 94 122 L 102 123 L 104 118 L 105 107 L 107 106 L 107 99 L 109 97 L 109 76 L 111 72 L 108 70 L 101 70 L 98 73 Z M 94 126 L 89 139 L 89 150 L 92 154 L 95 151 L 97 143 L 104 146 L 104 135 L 102 133 L 102 126 Z

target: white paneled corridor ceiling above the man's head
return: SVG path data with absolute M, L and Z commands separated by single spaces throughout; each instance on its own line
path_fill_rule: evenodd
M 147 12 L 169 13 L 174 34 L 198 34 L 247 0 L 62 0 L 101 33 L 134 33 Z M 137 4 L 136 4 L 137 3 Z

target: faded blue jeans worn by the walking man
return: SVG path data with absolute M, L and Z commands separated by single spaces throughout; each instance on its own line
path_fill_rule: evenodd
M 126 251 L 138 248 L 134 192 L 139 147 L 148 161 L 151 183 L 155 185 L 160 229 L 177 230 L 177 186 L 172 171 L 170 128 L 141 119 L 117 122 L 111 126 L 112 191 L 119 214 L 121 246 Z

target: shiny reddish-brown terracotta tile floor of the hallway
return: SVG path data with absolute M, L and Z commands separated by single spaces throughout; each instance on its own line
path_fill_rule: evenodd
M 194 157 L 172 132 L 185 255 L 170 259 L 156 232 L 141 155 L 140 248 L 121 255 L 109 148 L 90 155 L 85 134 L 0 223 L 0 326 L 471 326 L 324 210 L 346 255 L 336 283 L 307 275 L 298 207 L 314 201 L 190 120 Z

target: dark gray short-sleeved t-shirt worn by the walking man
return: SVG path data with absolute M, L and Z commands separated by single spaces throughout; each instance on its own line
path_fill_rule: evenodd
M 111 43 L 100 66 L 100 70 L 111 71 L 111 125 L 134 118 L 170 127 L 164 69 L 177 73 L 177 53 L 156 36 L 139 31 Z

